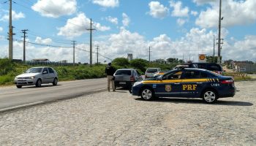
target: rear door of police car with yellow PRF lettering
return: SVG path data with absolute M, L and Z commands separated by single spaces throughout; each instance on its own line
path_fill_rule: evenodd
M 200 77 L 200 71 L 184 70 L 181 75 L 181 79 L 181 96 L 200 96 L 200 89 L 202 89 L 203 86 L 203 80 Z

